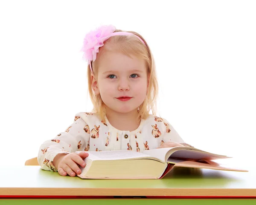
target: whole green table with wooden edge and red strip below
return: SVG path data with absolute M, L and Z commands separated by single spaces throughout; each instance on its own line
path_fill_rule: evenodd
M 164 205 L 170 204 L 170 200 L 177 205 L 215 202 L 256 205 L 256 168 L 250 168 L 249 172 L 174 168 L 163 179 L 111 180 L 62 177 L 39 166 L 11 169 L 0 166 L 0 197 L 0 205 L 79 205 L 84 200 L 90 201 L 90 205 L 131 202 Z

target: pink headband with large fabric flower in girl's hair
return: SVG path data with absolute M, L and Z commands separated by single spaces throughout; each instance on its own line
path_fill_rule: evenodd
M 114 32 L 116 28 L 112 25 L 110 26 L 101 26 L 95 31 L 90 31 L 86 36 L 84 37 L 84 44 L 81 48 L 81 51 L 84 52 L 83 59 L 87 60 L 88 65 L 90 65 L 90 70 L 93 73 L 92 69 L 92 61 L 96 60 L 97 53 L 99 53 L 99 47 L 102 47 L 104 45 L 104 41 L 109 39 L 111 36 L 117 36 L 117 35 L 124 35 L 124 36 L 131 36 L 134 35 L 138 37 L 135 34 L 129 33 L 129 32 Z M 146 46 L 145 42 L 140 38 L 140 41 Z

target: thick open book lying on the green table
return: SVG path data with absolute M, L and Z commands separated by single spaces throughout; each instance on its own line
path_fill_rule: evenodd
M 76 151 L 79 153 L 80 151 Z M 81 168 L 82 179 L 161 179 L 174 167 L 247 171 L 221 166 L 215 159 L 231 158 L 192 147 L 136 151 L 88 151 Z

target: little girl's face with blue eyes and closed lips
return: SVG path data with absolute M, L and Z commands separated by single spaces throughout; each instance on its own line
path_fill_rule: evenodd
M 100 94 L 105 105 L 115 112 L 137 110 L 147 94 L 149 74 L 145 60 L 131 57 L 106 51 L 101 56 L 96 79 L 92 77 L 95 94 Z

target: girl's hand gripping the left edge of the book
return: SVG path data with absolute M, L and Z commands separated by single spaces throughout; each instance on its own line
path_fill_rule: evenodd
M 88 156 L 89 154 L 86 152 L 57 154 L 53 159 L 53 165 L 56 165 L 55 167 L 61 176 L 67 176 L 68 174 L 70 177 L 75 177 L 76 174 L 81 174 L 81 169 L 79 169 L 78 165 L 85 167 L 86 164 L 83 159 Z

